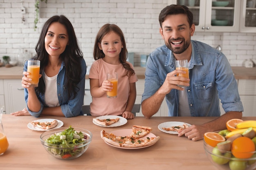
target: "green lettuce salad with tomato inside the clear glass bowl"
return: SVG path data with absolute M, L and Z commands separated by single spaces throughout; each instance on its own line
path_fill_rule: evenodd
M 84 150 L 84 147 L 86 147 L 86 141 L 87 135 L 74 130 L 71 126 L 45 139 L 45 142 L 50 147 L 48 150 L 62 159 L 79 155 Z

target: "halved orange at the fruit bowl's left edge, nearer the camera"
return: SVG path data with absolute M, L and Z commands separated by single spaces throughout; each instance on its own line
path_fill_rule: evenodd
M 215 147 L 218 143 L 225 141 L 225 137 L 216 132 L 206 132 L 204 133 L 204 141 L 208 145 Z

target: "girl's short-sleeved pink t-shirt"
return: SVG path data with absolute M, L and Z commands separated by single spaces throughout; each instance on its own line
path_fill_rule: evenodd
M 128 64 L 133 69 L 132 64 L 129 62 Z M 90 104 L 90 113 L 92 116 L 121 115 L 126 109 L 130 83 L 138 81 L 136 74 L 130 76 L 130 78 L 126 76 L 126 69 L 122 64 L 108 64 L 102 58 L 92 63 L 89 79 L 99 79 L 101 86 L 102 82 L 107 79 L 108 72 L 118 73 L 117 97 L 108 98 L 107 94 L 101 97 L 92 97 L 92 103 Z

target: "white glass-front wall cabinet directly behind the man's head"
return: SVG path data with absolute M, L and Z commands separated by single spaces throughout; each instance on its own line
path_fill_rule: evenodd
M 193 13 L 195 31 L 238 32 L 241 0 L 169 0 L 186 5 Z

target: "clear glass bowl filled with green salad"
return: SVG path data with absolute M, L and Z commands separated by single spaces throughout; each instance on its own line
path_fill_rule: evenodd
M 75 159 L 88 149 L 92 133 L 82 128 L 63 127 L 43 132 L 40 141 L 53 157 Z

